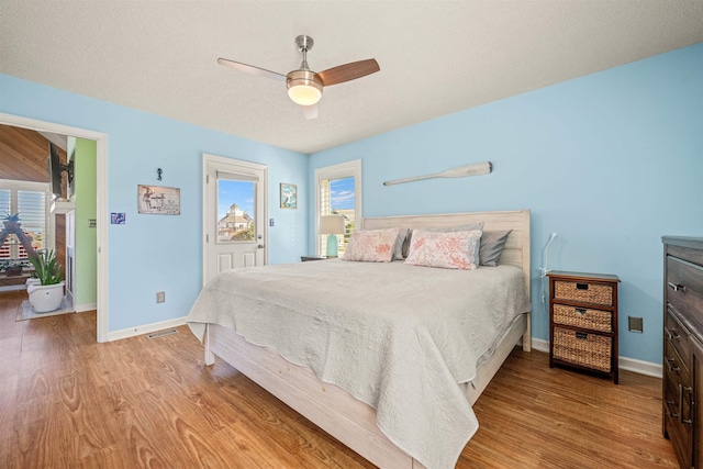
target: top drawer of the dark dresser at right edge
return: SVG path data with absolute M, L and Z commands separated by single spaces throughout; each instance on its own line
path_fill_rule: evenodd
M 703 311 L 703 267 L 667 257 L 667 302 L 681 314 Z

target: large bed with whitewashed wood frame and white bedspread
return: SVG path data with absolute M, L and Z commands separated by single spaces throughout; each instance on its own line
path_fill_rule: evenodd
M 484 232 L 512 230 L 500 266 L 457 273 L 402 261 L 371 265 L 334 259 L 238 269 L 208 283 L 188 324 L 204 343 L 205 364 L 213 364 L 215 356 L 224 359 L 375 465 L 454 467 L 478 428 L 470 405 L 515 345 L 522 342 L 523 349 L 529 350 L 529 211 L 372 217 L 362 223 L 364 230 L 383 230 L 446 228 L 475 222 L 482 222 Z M 435 272 L 432 279 L 422 277 L 428 271 Z M 320 294 L 323 283 L 334 288 L 342 276 L 370 278 L 381 292 L 356 291 L 356 297 L 348 298 Z M 461 284 L 476 283 L 471 298 L 486 297 L 481 301 L 495 311 L 491 316 L 504 316 L 502 322 L 491 319 L 488 325 L 473 324 L 460 315 L 445 324 L 434 313 L 410 312 L 411 303 L 434 312 L 454 308 L 446 302 L 469 301 L 458 300 L 464 289 L 447 283 L 455 278 L 471 280 Z M 490 290 L 492 283 L 482 283 L 506 279 L 513 287 L 505 294 Z M 364 283 L 354 280 L 350 290 L 367 288 Z M 343 283 L 336 284 L 338 291 Z M 310 286 L 313 289 L 306 290 Z M 230 297 L 235 288 L 239 289 L 236 304 Z M 422 291 L 413 299 L 411 290 Z M 480 293 L 489 290 L 490 294 Z M 384 297 L 386 305 L 377 306 L 380 301 L 369 300 L 373 295 Z M 316 302 L 320 297 L 327 301 L 325 305 Z M 239 310 L 237 315 L 231 314 L 233 305 Z M 293 310 L 300 315 L 289 316 Z M 362 323 L 352 315 L 370 310 L 378 312 Z M 393 310 L 408 313 L 399 317 Z M 280 311 L 287 314 L 276 315 Z M 317 334 L 317 330 L 324 332 Z M 462 340 L 462 331 L 464 335 L 476 331 L 476 342 L 481 344 Z M 458 339 L 449 337 L 455 334 Z

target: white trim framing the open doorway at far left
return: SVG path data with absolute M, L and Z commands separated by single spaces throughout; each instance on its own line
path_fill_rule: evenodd
M 40 121 L 0 112 L 0 124 L 51 132 L 97 143 L 97 237 L 98 237 L 98 304 L 97 340 L 108 342 L 108 135 L 86 129 L 71 127 L 54 122 Z

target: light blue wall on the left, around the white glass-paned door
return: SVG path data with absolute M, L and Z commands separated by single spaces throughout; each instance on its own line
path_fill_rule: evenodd
M 0 112 L 108 134 L 108 209 L 126 213 L 109 225 L 109 331 L 188 314 L 202 283 L 202 153 L 268 165 L 269 263 L 306 253 L 308 208 L 280 210 L 279 182 L 302 196 L 306 156 L 76 93 L 0 75 Z M 232 112 L 237 112 L 233 109 Z M 163 168 L 163 180 L 156 180 Z M 137 214 L 137 185 L 180 188 L 181 214 Z M 156 292 L 166 302 L 156 303 Z

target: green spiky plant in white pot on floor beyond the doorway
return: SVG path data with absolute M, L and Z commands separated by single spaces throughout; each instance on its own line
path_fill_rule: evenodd
M 54 249 L 40 250 L 30 257 L 30 261 L 38 280 L 38 284 L 26 287 L 30 303 L 37 313 L 57 310 L 64 301 L 64 273 L 62 266 L 56 264 L 56 253 Z

